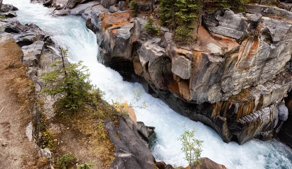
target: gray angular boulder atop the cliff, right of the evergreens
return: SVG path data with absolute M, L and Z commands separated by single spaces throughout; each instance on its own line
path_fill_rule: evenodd
M 229 9 L 218 9 L 213 14 L 205 14 L 203 21 L 209 31 L 237 40 L 248 33 L 245 17 Z

